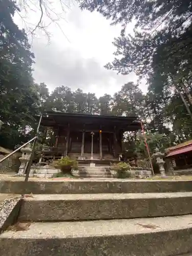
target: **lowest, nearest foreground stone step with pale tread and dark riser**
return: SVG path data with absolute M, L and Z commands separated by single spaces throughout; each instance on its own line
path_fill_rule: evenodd
M 0 235 L 1 256 L 170 256 L 192 252 L 192 215 L 33 222 Z M 190 255 L 190 254 L 189 254 Z

